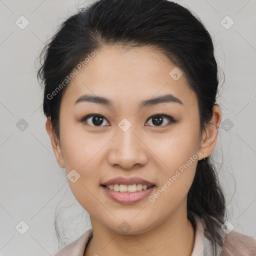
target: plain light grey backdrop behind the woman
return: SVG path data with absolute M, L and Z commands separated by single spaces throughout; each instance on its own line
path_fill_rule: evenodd
M 177 2 L 213 36 L 225 74 L 223 83 L 220 73 L 222 120 L 213 158 L 228 202 L 227 220 L 234 230 L 256 236 L 256 1 Z M 54 230 L 56 207 L 65 242 L 90 227 L 53 154 L 35 63 L 57 26 L 84 3 L 89 1 L 0 0 L 0 255 L 54 255 L 63 246 Z M 16 24 L 20 16 L 22 25 L 29 22 L 23 29 Z

